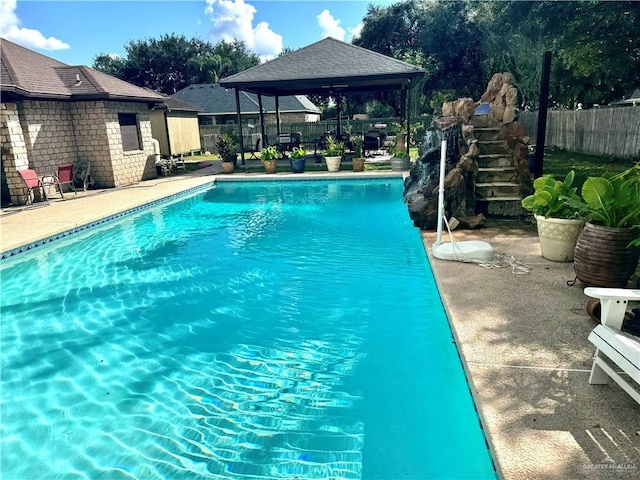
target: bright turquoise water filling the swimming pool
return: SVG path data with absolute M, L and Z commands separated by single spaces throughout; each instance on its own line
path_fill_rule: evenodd
M 3 261 L 2 478 L 496 478 L 402 189 L 219 183 Z

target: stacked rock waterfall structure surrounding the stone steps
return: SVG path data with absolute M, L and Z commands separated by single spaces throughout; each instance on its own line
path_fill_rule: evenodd
M 518 91 L 513 85 L 510 73 L 493 75 L 485 93 L 479 101 L 472 98 L 460 98 L 446 102 L 442 107 L 442 116 L 433 121 L 432 129 L 442 132 L 445 138 L 451 137 L 452 129 L 460 129 L 463 141 L 456 145 L 457 154 L 447 148 L 447 175 L 445 177 L 445 216 L 455 217 L 463 228 L 477 228 L 484 225 L 485 213 L 497 216 L 518 216 L 522 213 L 519 199 L 531 191 L 531 175 L 528 169 L 529 137 L 525 135 L 522 124 L 517 122 Z M 486 108 L 481 106 L 485 104 Z M 475 114 L 481 107 L 482 114 Z M 476 136 L 476 128 L 481 136 Z M 480 141 L 480 145 L 479 145 Z M 504 146 L 506 145 L 506 147 Z M 504 168 L 507 181 L 493 177 L 504 172 L 500 168 L 485 168 L 478 160 L 491 157 L 488 148 L 504 149 L 508 168 Z M 414 224 L 425 230 L 433 230 L 437 224 L 438 185 L 434 185 L 434 172 L 439 170 L 435 164 L 436 155 L 423 152 L 419 162 L 405 182 L 405 200 Z M 438 155 L 439 157 L 439 155 Z M 504 161 L 504 160 L 501 160 Z M 418 180 L 418 175 L 427 175 L 431 181 Z M 479 176 L 488 178 L 486 183 L 478 182 Z M 482 180 L 482 179 L 481 179 Z M 484 182 L 484 180 L 483 180 Z M 416 189 L 415 185 L 420 187 Z M 482 185 L 482 186 L 481 186 Z M 483 198 L 478 188 L 488 189 L 493 198 Z M 515 191 L 516 197 L 509 202 L 495 202 L 494 195 L 500 195 L 500 189 Z M 492 201 L 489 201 L 492 200 Z M 505 206 L 507 205 L 507 206 Z

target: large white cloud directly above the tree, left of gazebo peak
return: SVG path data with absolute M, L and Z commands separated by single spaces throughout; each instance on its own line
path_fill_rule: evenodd
M 213 42 L 241 40 L 262 61 L 271 60 L 282 52 L 282 35 L 271 30 L 267 22 L 254 27 L 256 12 L 256 8 L 244 0 L 207 0 L 205 14 L 213 24 L 209 39 Z

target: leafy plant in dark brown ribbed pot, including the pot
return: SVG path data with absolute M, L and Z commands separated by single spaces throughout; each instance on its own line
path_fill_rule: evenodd
M 575 248 L 578 279 L 599 287 L 626 287 L 640 251 L 640 165 L 589 177 L 582 186 L 587 223 Z

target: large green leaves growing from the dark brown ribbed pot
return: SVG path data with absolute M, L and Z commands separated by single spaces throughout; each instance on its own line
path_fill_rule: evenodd
M 606 227 L 640 227 L 640 165 L 589 177 L 581 193 L 589 221 Z

